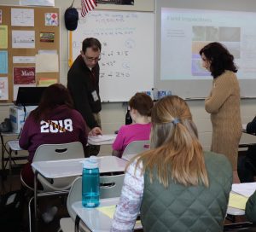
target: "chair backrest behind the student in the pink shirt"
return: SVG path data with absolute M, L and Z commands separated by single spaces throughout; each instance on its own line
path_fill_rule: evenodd
M 149 149 L 149 144 L 150 144 L 149 140 L 130 142 L 126 146 L 126 148 L 123 152 L 122 159 L 129 161 L 131 158 L 133 158 L 137 154 L 147 151 Z

